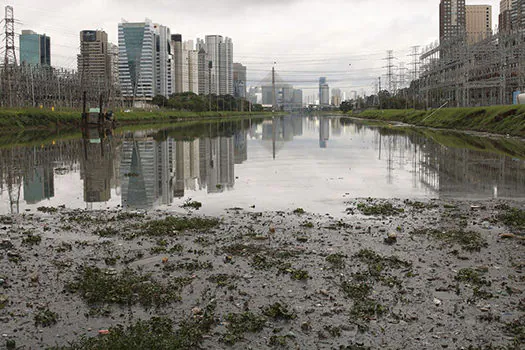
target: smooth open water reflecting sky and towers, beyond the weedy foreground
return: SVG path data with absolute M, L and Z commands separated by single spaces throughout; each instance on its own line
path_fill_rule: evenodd
M 461 142 L 459 142 L 461 141 Z M 525 198 L 519 141 L 372 128 L 329 117 L 86 130 L 0 149 L 0 212 L 41 205 L 151 209 L 192 197 L 339 210 L 350 197 Z M 236 184 L 237 181 L 237 184 Z

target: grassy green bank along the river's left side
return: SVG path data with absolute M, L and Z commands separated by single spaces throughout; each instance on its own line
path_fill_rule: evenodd
M 267 112 L 184 112 L 171 110 L 115 112 L 119 125 L 172 123 L 179 121 L 270 115 Z M 80 111 L 42 109 L 0 109 L 0 131 L 78 128 Z

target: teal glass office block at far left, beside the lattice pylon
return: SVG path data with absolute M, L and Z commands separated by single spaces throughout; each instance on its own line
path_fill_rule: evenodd
M 20 35 L 20 63 L 31 66 L 51 65 L 51 39 L 45 34 L 22 30 Z

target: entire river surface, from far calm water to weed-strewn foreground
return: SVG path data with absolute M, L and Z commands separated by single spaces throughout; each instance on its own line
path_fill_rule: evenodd
M 2 350 L 523 349 L 522 140 L 324 116 L 9 140 Z

